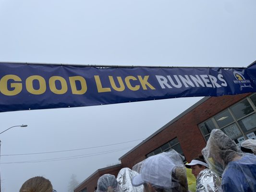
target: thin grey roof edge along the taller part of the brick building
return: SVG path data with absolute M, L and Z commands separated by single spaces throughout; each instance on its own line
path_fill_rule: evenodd
M 155 135 L 157 135 L 159 132 L 163 131 L 165 128 L 167 128 L 169 125 L 171 125 L 172 123 L 174 123 L 176 120 L 182 118 L 185 114 L 187 114 L 188 112 L 192 111 L 194 108 L 196 108 L 197 106 L 201 105 L 203 102 L 205 102 L 208 98 L 210 98 L 210 96 L 205 96 L 202 99 L 200 99 L 199 101 L 197 101 L 193 106 L 191 106 L 190 108 L 186 109 L 185 111 L 183 111 L 180 115 L 178 115 L 177 117 L 175 117 L 173 120 L 171 120 L 170 122 L 168 122 L 167 124 L 165 124 L 163 127 L 161 127 L 160 129 L 158 129 L 158 131 L 154 132 L 153 134 L 151 134 L 149 137 L 147 137 L 145 140 L 143 140 L 141 143 L 137 144 L 134 148 L 132 148 L 130 151 L 128 151 L 126 154 L 124 154 L 123 156 L 121 156 L 119 158 L 119 160 L 121 160 L 123 157 L 127 156 L 128 154 L 130 154 L 131 152 L 133 152 L 135 149 L 137 149 L 139 146 L 141 146 L 142 144 L 145 144 L 148 140 L 150 140 L 152 137 L 154 137 Z

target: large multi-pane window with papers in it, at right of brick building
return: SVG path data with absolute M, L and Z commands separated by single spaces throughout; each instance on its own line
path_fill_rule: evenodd
M 239 145 L 246 139 L 256 139 L 256 94 L 226 108 L 198 127 L 206 141 L 215 128 L 221 129 Z

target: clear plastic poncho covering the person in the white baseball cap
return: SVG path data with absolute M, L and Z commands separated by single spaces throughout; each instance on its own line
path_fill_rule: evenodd
M 133 186 L 149 183 L 156 192 L 188 192 L 183 159 L 184 157 L 173 149 L 148 157 L 136 166 L 140 169 L 140 174 L 133 178 Z M 144 191 L 148 190 L 144 188 Z

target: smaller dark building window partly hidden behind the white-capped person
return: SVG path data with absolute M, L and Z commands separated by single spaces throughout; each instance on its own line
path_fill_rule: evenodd
M 169 141 L 168 143 L 163 144 L 160 147 L 156 148 L 154 151 L 148 153 L 146 155 L 146 158 L 149 157 L 149 156 L 157 155 L 157 154 L 162 153 L 162 152 L 167 152 L 167 151 L 169 151 L 171 149 L 174 149 L 179 154 L 184 156 L 181 144 L 179 143 L 178 138 L 176 137 L 176 138 L 172 139 L 171 141 Z M 184 160 L 184 162 L 186 162 L 186 160 Z

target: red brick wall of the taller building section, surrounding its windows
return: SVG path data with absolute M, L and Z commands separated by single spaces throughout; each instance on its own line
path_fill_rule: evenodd
M 152 137 L 130 154 L 122 157 L 123 167 L 132 168 L 136 163 L 145 159 L 146 154 L 158 148 L 162 144 L 177 137 L 183 153 L 188 162 L 201 153 L 206 142 L 197 127 L 197 124 L 214 116 L 225 108 L 238 102 L 250 94 L 240 94 L 235 96 L 210 97 L 205 102 L 192 109 L 179 120 L 176 120 L 163 131 Z

